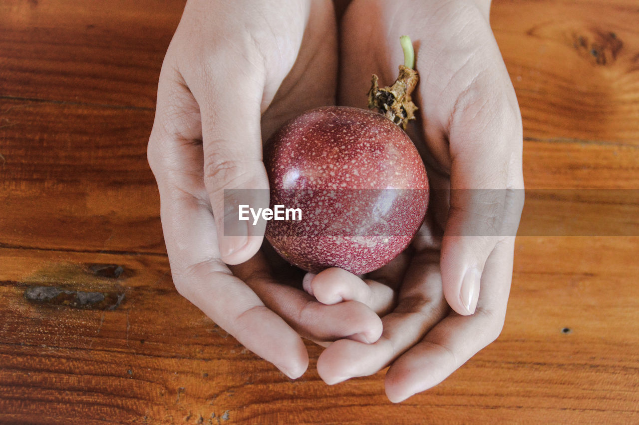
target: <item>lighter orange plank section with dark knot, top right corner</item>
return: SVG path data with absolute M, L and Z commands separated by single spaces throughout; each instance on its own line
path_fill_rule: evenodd
M 634 0 L 494 1 L 525 135 L 639 144 Z

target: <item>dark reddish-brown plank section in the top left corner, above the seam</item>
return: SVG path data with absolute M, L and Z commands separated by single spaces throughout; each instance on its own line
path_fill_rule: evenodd
M 7 0 L 0 96 L 152 109 L 184 0 Z

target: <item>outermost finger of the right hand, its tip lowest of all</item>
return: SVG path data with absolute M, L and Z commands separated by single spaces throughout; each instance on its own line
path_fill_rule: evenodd
M 451 314 L 397 359 L 386 375 L 386 394 L 395 403 L 429 389 L 494 341 L 504 324 L 511 282 L 514 238 L 499 243 L 486 262 L 479 308 L 472 316 Z

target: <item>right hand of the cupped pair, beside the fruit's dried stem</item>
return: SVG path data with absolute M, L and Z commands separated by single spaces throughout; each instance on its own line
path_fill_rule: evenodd
M 337 269 L 306 278 L 307 290 L 326 304 L 359 300 L 392 309 L 376 343 L 328 346 L 318 360 L 327 383 L 390 365 L 386 393 L 402 401 L 441 382 L 501 332 L 523 208 L 523 190 L 516 190 L 523 189 L 523 142 L 488 14 L 484 0 L 355 0 L 346 11 L 340 104 L 365 107 L 372 73 L 390 85 L 403 62 L 399 36 L 413 39 L 420 119 L 410 135 L 432 191 L 412 247 L 368 280 Z M 380 284 L 397 289 L 396 304 Z

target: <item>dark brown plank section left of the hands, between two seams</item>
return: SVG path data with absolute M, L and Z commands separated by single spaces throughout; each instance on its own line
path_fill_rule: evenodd
M 166 252 L 146 160 L 152 111 L 14 99 L 0 111 L 0 202 L 10 207 L 0 243 Z

